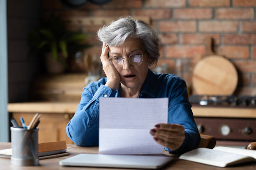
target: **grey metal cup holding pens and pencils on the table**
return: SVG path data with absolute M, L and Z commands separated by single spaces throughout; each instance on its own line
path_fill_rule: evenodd
M 38 160 L 38 128 L 24 129 L 11 127 L 11 165 L 36 166 Z

